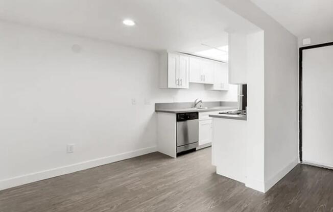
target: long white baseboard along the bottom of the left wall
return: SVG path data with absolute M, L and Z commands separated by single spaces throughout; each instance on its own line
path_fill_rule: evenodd
M 148 154 L 148 153 L 152 153 L 152 152 L 156 152 L 156 151 L 157 151 L 156 146 L 148 147 L 148 148 L 138 149 L 135 151 L 125 152 L 125 153 L 121 153 L 121 154 L 100 157 L 97 159 L 84 161 L 84 162 L 77 163 L 77 164 L 71 164 L 71 165 L 67 165 L 67 166 L 57 167 L 57 168 L 53 168 L 53 169 L 48 169 L 48 170 L 43 170 L 43 171 L 39 171 L 39 172 L 16 176 L 16 177 L 8 178 L 8 179 L 3 179 L 3 180 L 0 180 L 0 190 L 9 189 L 12 187 L 20 186 L 22 184 L 36 182 L 39 180 L 56 177 L 56 176 L 60 176 L 60 175 L 64 175 L 64 174 L 69 174 L 69 173 L 73 173 L 73 172 L 77 172 L 77 171 L 81 171 L 84 169 L 89 169 L 89 168 L 93 168 L 93 167 L 97 167 L 97 166 L 101 166 L 101 165 L 105 165 L 105 164 L 110 164 L 110 163 L 114 163 L 117 161 L 126 160 L 131 157 L 136 157 L 136 156 L 140 156 L 140 155 L 144 155 L 144 154 Z

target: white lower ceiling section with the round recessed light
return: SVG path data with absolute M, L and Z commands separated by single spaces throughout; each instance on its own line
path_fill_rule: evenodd
M 125 26 L 125 18 L 136 25 Z M 151 50 L 227 45 L 256 27 L 215 0 L 0 0 L 0 19 Z

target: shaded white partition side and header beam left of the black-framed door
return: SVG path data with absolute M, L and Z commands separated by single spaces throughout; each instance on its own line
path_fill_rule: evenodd
M 267 191 L 298 163 L 297 38 L 249 0 L 219 2 L 265 33 L 264 99 L 260 93 L 255 98 L 265 101 L 265 174 L 257 189 Z

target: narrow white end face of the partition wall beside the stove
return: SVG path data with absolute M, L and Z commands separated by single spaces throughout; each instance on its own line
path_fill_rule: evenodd
M 265 191 L 265 69 L 264 31 L 246 36 L 247 52 L 247 142 L 246 186 Z

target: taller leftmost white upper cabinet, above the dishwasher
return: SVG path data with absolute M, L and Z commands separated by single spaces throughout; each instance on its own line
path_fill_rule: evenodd
M 188 89 L 189 57 L 165 52 L 159 60 L 160 88 Z

